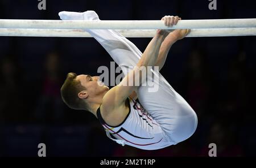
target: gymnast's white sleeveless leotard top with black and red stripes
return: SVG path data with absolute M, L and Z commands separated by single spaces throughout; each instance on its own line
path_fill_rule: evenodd
M 130 105 L 129 114 L 118 126 L 109 126 L 101 117 L 100 107 L 97 117 L 105 128 L 107 136 L 122 145 L 130 145 L 140 149 L 154 150 L 170 146 L 162 128 L 139 102 L 128 98 Z

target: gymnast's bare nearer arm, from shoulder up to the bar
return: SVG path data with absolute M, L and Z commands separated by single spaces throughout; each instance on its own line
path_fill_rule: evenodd
M 129 80 L 139 81 L 139 84 L 142 83 L 144 79 L 139 69 L 155 65 L 163 40 L 164 36 L 160 33 L 160 31 L 158 31 L 148 44 L 146 50 L 144 50 L 141 59 L 137 63 L 137 66 L 135 66 L 134 69 L 123 78 L 121 83 L 110 89 L 105 94 L 102 100 L 102 106 L 104 106 L 104 109 L 105 107 L 108 108 L 106 111 L 121 111 L 121 109 L 123 109 L 127 97 L 129 97 L 130 94 L 139 87 L 139 85 L 135 85 L 134 82 L 129 83 Z

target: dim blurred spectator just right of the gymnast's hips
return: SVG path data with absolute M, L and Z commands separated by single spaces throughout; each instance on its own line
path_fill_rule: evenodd
M 197 117 L 210 113 L 210 100 L 214 97 L 214 76 L 210 70 L 210 64 L 202 50 L 192 50 L 185 66 L 181 87 L 181 95 L 196 111 Z M 205 114 L 206 113 L 206 114 Z

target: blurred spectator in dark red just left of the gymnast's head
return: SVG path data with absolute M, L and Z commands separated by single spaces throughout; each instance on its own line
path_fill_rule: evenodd
M 64 119 L 64 104 L 60 96 L 63 74 L 59 57 L 56 52 L 49 53 L 44 63 L 42 92 L 35 110 L 35 118 L 39 122 L 60 122 Z

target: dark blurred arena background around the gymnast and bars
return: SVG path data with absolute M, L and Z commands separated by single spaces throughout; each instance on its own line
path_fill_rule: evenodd
M 101 20 L 256 18 L 255 1 L 191 0 L 0 1 L 0 19 L 59 19 L 60 11 L 94 10 Z M 129 38 L 143 52 L 150 38 Z M 98 120 L 69 109 L 60 87 L 68 72 L 97 74 L 109 54 L 93 38 L 0 37 L 0 156 L 255 156 L 256 37 L 184 38 L 168 54 L 162 75 L 196 111 L 195 134 L 147 151 L 108 139 Z

